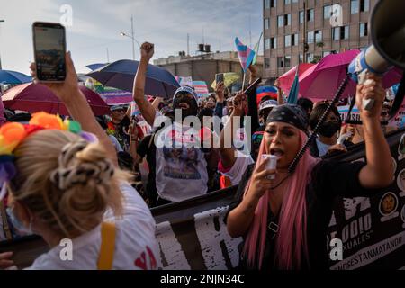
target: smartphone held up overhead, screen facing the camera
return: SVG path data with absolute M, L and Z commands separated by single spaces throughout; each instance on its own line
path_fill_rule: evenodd
M 33 23 L 34 58 L 41 82 L 63 82 L 66 78 L 66 31 L 58 23 Z

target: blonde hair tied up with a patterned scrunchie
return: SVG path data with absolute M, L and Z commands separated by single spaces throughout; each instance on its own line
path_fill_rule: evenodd
M 99 143 L 62 130 L 41 130 L 15 150 L 18 175 L 11 184 L 49 229 L 67 238 L 94 229 L 111 208 L 121 215 L 121 181 L 130 175 L 115 168 Z

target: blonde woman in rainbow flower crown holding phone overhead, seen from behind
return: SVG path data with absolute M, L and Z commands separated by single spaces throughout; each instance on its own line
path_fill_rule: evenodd
M 0 130 L 4 139 L 11 137 L 8 131 L 14 135 L 13 147 L 6 148 L 14 156 L 8 165 L 18 172 L 2 175 L 12 222 L 50 248 L 29 269 L 156 269 L 155 220 L 129 184 L 130 175 L 118 168 L 115 148 L 79 90 L 70 52 L 64 58 L 63 82 L 55 75 L 39 81 L 35 64 L 31 74 L 77 122 L 40 112 L 29 125 L 11 122 Z M 70 261 L 59 257 L 66 238 L 72 240 Z

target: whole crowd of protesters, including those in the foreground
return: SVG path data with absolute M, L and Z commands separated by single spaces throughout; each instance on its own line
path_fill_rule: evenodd
M 285 104 L 277 82 L 277 99 L 266 96 L 257 101 L 256 93 L 230 94 L 223 83 L 205 99 L 187 86 L 179 88 L 173 99 L 148 99 L 146 71 L 153 55 L 153 44 L 144 43 L 133 85 L 140 114 L 132 116 L 130 106 L 117 105 L 111 107 L 111 115 L 94 118 L 78 92 L 75 67 L 67 54 L 66 82 L 49 87 L 67 105 L 72 119 L 98 141 L 42 127 L 30 131 L 14 148 L 18 174 L 7 184 L 6 205 L 12 234 L 33 232 L 51 248 L 31 268 L 156 268 L 155 222 L 148 208 L 232 185 L 238 185 L 238 193 L 227 224 L 232 237 L 244 238 L 241 266 L 325 268 L 322 239 L 334 199 L 371 195 L 392 182 L 392 173 L 387 173 L 393 169 L 391 154 L 384 138 L 392 127 L 381 124 L 390 103 L 380 79 L 370 77 L 372 85 L 357 86 L 358 103 L 363 98 L 376 101 L 372 111 L 358 105 L 363 125 L 344 125 L 333 105 L 295 172 L 289 174 L 329 103 L 301 98 L 297 104 Z M 250 76 L 250 83 L 258 77 L 254 67 Z M 175 117 L 176 111 L 181 111 L 181 118 Z M 191 116 L 220 122 L 199 128 L 184 124 Z M 9 124 L 32 125 L 39 116 L 8 112 L 5 118 Z M 323 159 L 363 141 L 367 164 Z M 276 169 L 266 169 L 262 156 L 267 154 L 277 157 Z M 112 227 L 105 224 L 109 220 Z M 269 230 L 269 223 L 275 229 Z M 102 261 L 109 259 L 99 254 L 109 229 L 115 231 L 115 252 L 112 260 Z M 55 257 L 61 238 L 75 239 L 74 262 Z M 137 264 L 142 253 L 151 265 Z M 12 266 L 10 257 L 0 254 L 0 266 Z

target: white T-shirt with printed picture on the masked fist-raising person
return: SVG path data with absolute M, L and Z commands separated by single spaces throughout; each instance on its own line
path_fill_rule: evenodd
M 200 132 L 177 122 L 157 131 L 156 188 L 161 198 L 181 202 L 207 193 L 207 161 L 197 142 Z

